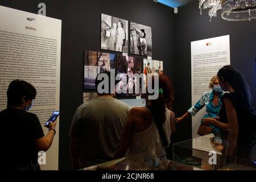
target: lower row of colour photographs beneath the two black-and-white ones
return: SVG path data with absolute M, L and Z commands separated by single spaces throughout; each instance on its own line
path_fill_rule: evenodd
M 115 93 L 117 97 L 142 96 L 142 85 L 147 84 L 147 75 L 162 75 L 163 61 L 141 57 L 115 55 L 97 51 L 85 51 L 84 90 L 96 92 L 95 79 L 98 73 L 115 72 Z M 138 75 L 134 75 L 134 74 Z M 143 75 L 141 75 L 143 73 Z M 84 100 L 92 93 L 84 94 Z M 96 96 L 94 96 L 96 97 Z

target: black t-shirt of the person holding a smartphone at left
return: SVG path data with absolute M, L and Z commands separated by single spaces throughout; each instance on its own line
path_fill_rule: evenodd
M 35 114 L 20 109 L 0 112 L 1 166 L 18 168 L 38 160 L 34 140 L 44 137 L 42 126 Z

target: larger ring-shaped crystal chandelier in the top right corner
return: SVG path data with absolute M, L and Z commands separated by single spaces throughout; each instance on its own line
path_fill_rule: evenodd
M 221 16 L 229 21 L 256 19 L 256 0 L 222 0 Z

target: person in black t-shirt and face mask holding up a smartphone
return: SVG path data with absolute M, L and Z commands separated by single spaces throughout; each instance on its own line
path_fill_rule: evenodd
M 11 127 L 1 131 L 1 165 L 7 170 L 40 170 L 38 152 L 51 147 L 56 133 L 55 122 L 49 122 L 44 136 L 35 114 L 27 112 L 34 104 L 36 89 L 23 80 L 14 80 L 7 90 L 7 108 L 0 112 L 1 123 Z

